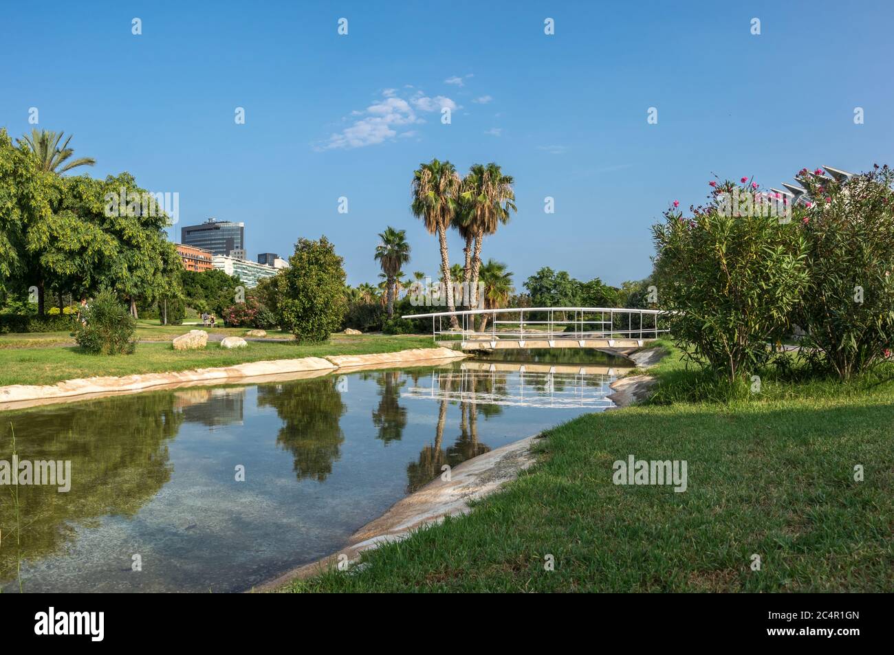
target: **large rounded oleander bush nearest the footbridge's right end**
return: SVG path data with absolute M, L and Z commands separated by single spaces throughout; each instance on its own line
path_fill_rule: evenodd
M 797 223 L 725 211 L 719 194 L 737 190 L 749 192 L 726 182 L 709 206 L 690 218 L 671 208 L 652 229 L 658 302 L 674 340 L 730 381 L 772 355 L 768 341 L 788 332 L 808 280 Z

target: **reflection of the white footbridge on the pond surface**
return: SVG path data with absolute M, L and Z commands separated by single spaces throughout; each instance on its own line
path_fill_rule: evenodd
M 516 407 L 611 407 L 610 384 L 627 367 L 467 361 L 459 370 L 434 371 L 428 384 L 404 398 Z M 421 380 L 420 380 L 421 382 Z

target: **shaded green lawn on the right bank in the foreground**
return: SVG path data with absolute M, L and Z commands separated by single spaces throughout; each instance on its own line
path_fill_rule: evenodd
M 894 366 L 843 386 L 768 372 L 729 402 L 685 400 L 704 381 L 676 353 L 656 374 L 669 404 L 558 426 L 540 463 L 468 516 L 287 590 L 894 590 Z M 687 491 L 613 484 L 631 454 L 686 460 Z

